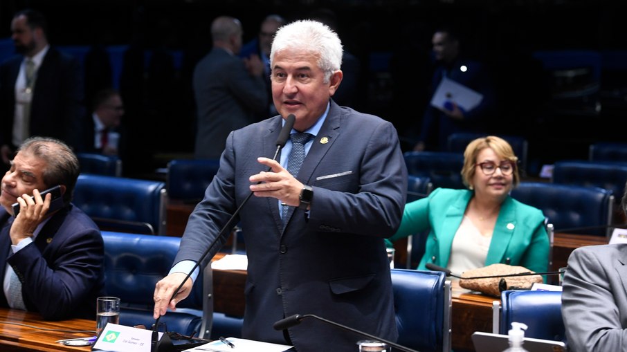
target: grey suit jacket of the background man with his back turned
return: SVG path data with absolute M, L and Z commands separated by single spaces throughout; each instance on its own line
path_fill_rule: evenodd
M 230 131 L 257 122 L 266 113 L 268 97 L 262 77 L 252 77 L 244 62 L 222 48 L 213 48 L 194 68 L 197 108 L 196 158 L 217 159 Z

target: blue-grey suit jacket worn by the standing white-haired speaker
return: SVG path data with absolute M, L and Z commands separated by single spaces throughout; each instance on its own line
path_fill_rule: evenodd
M 275 116 L 230 133 L 175 263 L 201 258 L 251 193 L 248 177 L 265 169 L 257 157 L 273 157 L 281 127 Z M 396 130 L 331 102 L 297 178 L 314 189 L 309 215 L 295 210 L 283 230 L 277 199 L 252 196 L 237 217 L 248 255 L 244 337 L 285 343 L 273 323 L 311 313 L 396 340 L 383 241 L 399 226 L 406 198 L 407 169 Z M 353 352 L 363 340 L 313 319 L 289 328 L 289 337 L 298 351 Z

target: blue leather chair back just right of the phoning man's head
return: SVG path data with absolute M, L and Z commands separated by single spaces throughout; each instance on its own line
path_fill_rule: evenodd
M 165 183 L 136 178 L 81 174 L 73 203 L 101 230 L 165 234 Z

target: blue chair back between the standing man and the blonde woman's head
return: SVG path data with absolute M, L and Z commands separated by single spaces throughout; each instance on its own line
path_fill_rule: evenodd
M 464 189 L 462 167 L 464 154 L 447 151 L 406 151 L 403 154 L 407 172 L 430 178 L 434 188 Z

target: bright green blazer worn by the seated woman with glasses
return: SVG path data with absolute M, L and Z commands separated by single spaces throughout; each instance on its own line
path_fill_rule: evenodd
M 453 237 L 472 196 L 473 192 L 467 189 L 438 188 L 428 197 L 408 203 L 401 226 L 390 240 L 429 230 L 418 269 L 426 270 L 426 263 L 446 268 Z M 524 266 L 535 272 L 547 271 L 549 263 L 544 214 L 511 196 L 503 202 L 496 219 L 485 265 L 507 263 L 508 259 L 510 265 Z

